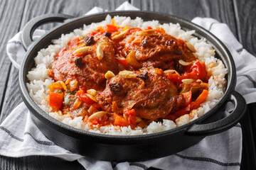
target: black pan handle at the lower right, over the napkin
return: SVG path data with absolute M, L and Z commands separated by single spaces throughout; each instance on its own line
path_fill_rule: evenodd
M 238 94 L 238 92 L 232 91 L 228 101 L 233 102 L 235 106 L 230 115 L 213 123 L 194 124 L 188 128 L 186 135 L 214 135 L 236 125 L 242 116 L 245 115 L 247 108 L 245 98 Z

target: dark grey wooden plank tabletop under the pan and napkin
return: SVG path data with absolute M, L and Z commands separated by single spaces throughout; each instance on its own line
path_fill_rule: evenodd
M 21 103 L 18 91 L 18 69 L 6 55 L 6 42 L 36 16 L 45 13 L 65 13 L 82 16 L 94 6 L 114 11 L 125 0 L 0 0 L 0 123 Z M 196 16 L 215 18 L 227 23 L 243 47 L 256 56 L 256 1 L 255 0 L 130 0 L 143 11 L 169 13 L 191 20 Z M 41 26 L 53 28 L 54 24 Z M 248 105 L 242 125 L 243 149 L 241 169 L 256 169 L 255 166 L 255 103 Z M 0 169 L 82 169 L 78 162 L 65 162 L 55 157 L 1 157 Z

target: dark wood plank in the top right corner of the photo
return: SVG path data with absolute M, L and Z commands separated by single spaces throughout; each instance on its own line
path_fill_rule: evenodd
M 256 1 L 234 0 L 234 8 L 237 11 L 237 23 L 240 30 L 240 42 L 248 52 L 256 57 Z

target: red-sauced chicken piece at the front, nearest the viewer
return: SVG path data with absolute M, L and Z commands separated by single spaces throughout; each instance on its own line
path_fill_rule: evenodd
M 117 75 L 107 80 L 106 89 L 97 95 L 102 110 L 122 114 L 125 108 L 133 108 L 139 118 L 156 120 L 183 106 L 185 99 L 177 96 L 176 86 L 163 74 L 156 74 L 155 69 L 134 74 L 131 79 Z

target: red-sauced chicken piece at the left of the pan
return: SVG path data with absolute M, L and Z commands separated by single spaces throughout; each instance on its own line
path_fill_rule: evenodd
M 105 73 L 108 70 L 118 73 L 114 45 L 103 35 L 89 45 L 89 50 L 75 55 L 73 52 L 80 47 L 73 45 L 60 56 L 55 57 L 52 67 L 55 81 L 65 82 L 67 79 L 77 79 L 79 85 L 86 86 L 88 89 L 103 90 L 105 88 Z M 98 45 L 102 47 L 104 54 L 101 60 L 97 57 Z

